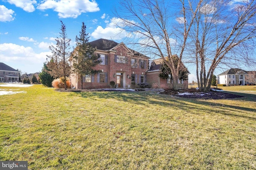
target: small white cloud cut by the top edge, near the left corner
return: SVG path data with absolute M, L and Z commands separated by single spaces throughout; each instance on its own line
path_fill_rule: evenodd
M 36 0 L 7 0 L 10 4 L 22 8 L 26 12 L 34 12 L 35 8 L 33 4 L 36 4 Z

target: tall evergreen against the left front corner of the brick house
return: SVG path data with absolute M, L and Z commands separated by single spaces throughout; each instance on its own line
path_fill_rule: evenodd
M 86 34 L 86 25 L 82 22 L 82 28 L 79 37 L 76 36 L 76 48 L 73 51 L 73 66 L 72 71 L 80 77 L 81 88 L 83 88 L 83 76 L 88 74 L 96 74 L 99 70 L 94 70 L 92 67 L 100 64 L 100 54 L 95 54 L 94 49 L 89 43 L 88 33 Z

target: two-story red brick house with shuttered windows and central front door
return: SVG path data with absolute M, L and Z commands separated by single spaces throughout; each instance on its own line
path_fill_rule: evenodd
M 126 47 L 124 43 L 116 43 L 107 39 L 98 39 L 90 42 L 100 54 L 102 63 L 94 67 L 101 70 L 94 75 L 86 75 L 83 78 L 83 88 L 110 88 L 110 82 L 114 81 L 118 88 L 138 87 L 139 82 L 146 82 L 149 57 L 142 55 Z M 72 57 L 70 65 L 72 66 Z M 81 88 L 80 76 L 71 74 L 71 84 L 75 88 Z

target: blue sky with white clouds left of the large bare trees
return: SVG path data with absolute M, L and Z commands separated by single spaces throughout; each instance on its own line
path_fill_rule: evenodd
M 241 0 L 232 0 L 240 2 Z M 56 44 L 60 20 L 66 25 L 68 38 L 75 46 L 82 21 L 90 41 L 112 39 L 118 43 L 126 37 L 114 22 L 112 8 L 119 0 L 0 0 L 0 62 L 22 73 L 42 70 L 50 45 Z M 119 34 L 117 34 L 119 33 Z M 194 67 L 189 81 L 196 81 Z M 217 70 L 217 74 L 223 70 Z

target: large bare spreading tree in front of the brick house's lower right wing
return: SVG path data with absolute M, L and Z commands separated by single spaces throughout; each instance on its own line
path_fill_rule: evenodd
M 177 4 L 174 4 L 178 2 Z M 182 56 L 186 47 L 188 33 L 198 13 L 202 0 L 196 6 L 190 1 L 179 0 L 122 0 L 121 7 L 114 11 L 118 19 L 117 25 L 125 30 L 129 36 L 136 37 L 135 45 L 141 47 L 143 53 L 151 57 L 160 57 L 170 68 L 173 78 L 173 88 L 178 89 L 180 72 L 184 71 Z M 183 28 L 181 34 L 174 34 L 171 15 L 181 10 Z M 193 12 L 190 18 L 186 18 L 186 10 Z M 179 10 L 178 10 L 179 12 Z M 176 22 L 176 21 L 175 21 Z M 174 43 L 174 41 L 178 41 Z M 173 52 L 174 49 L 178 49 Z M 176 57 L 178 55 L 178 59 Z M 178 63 L 177 63 L 178 62 Z

